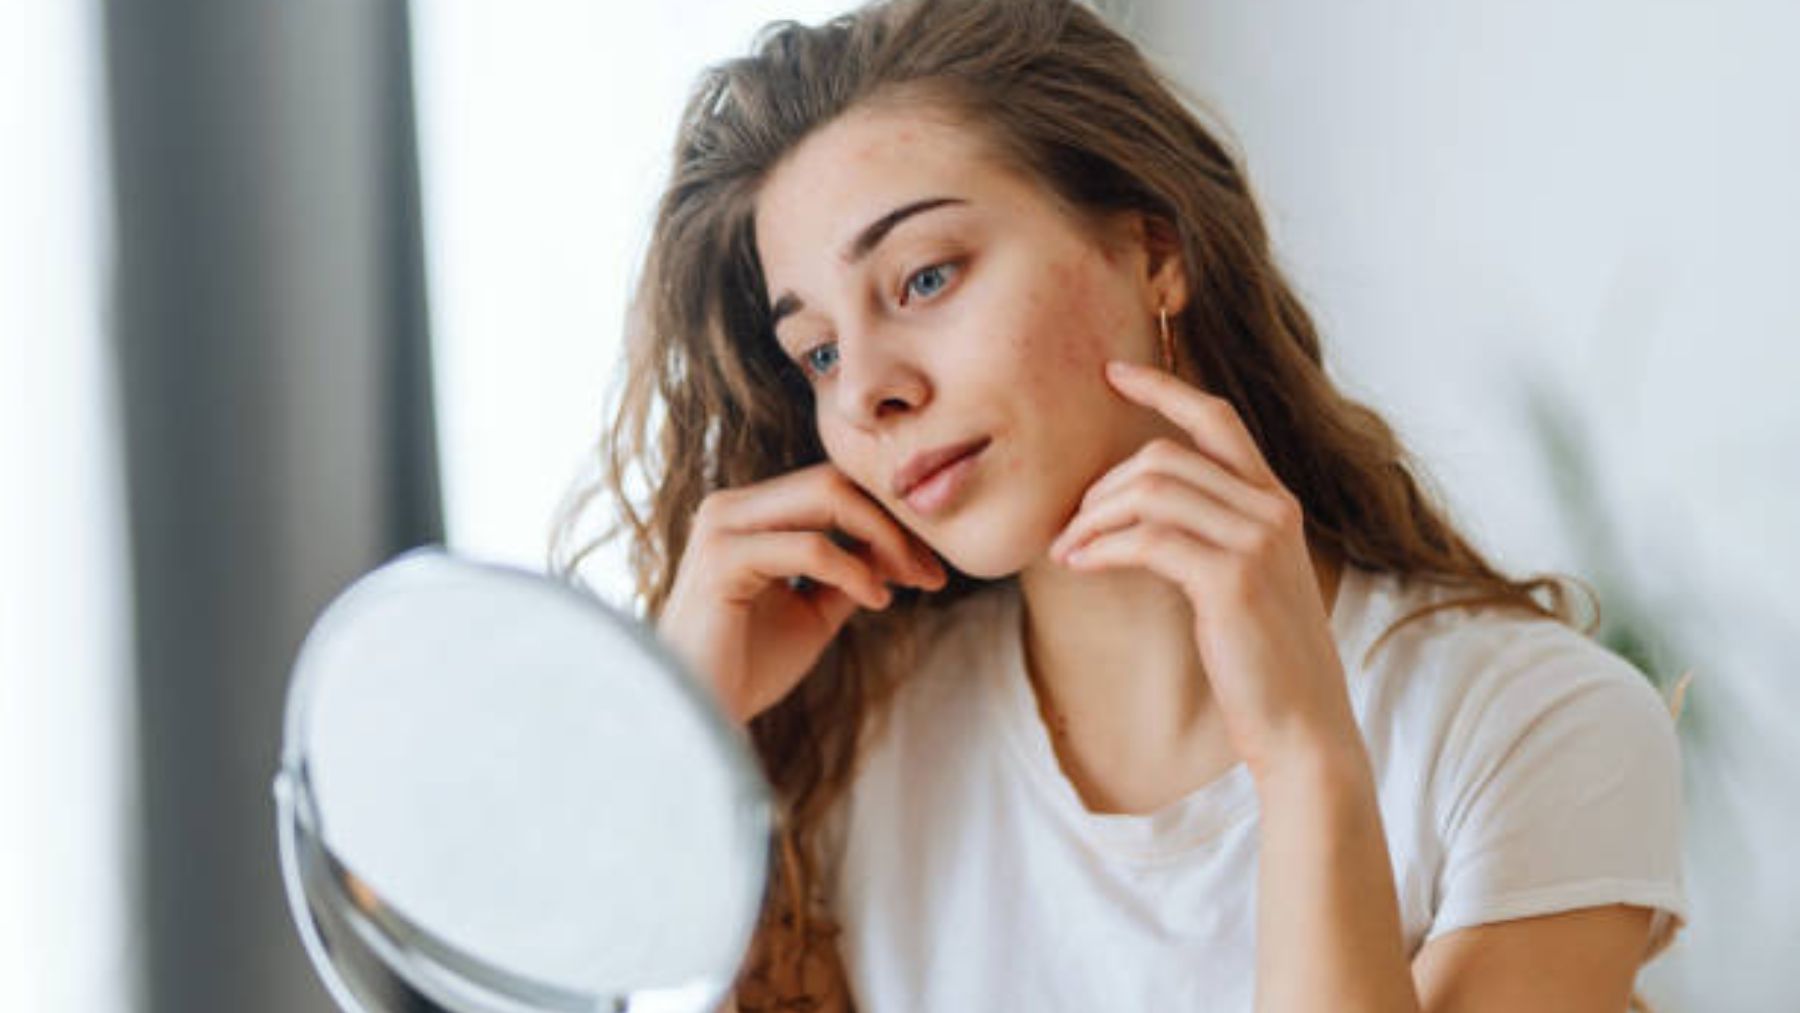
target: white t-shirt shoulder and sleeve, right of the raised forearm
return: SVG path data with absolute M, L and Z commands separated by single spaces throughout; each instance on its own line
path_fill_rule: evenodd
M 1402 585 L 1381 619 L 1469 597 Z M 1681 741 L 1636 666 L 1548 615 L 1456 606 L 1395 633 L 1361 675 L 1390 842 L 1427 883 L 1408 909 L 1420 943 L 1636 903 L 1658 909 L 1652 946 L 1669 945 L 1688 912 Z

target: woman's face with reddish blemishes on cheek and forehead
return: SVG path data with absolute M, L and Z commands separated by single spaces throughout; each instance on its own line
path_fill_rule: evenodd
M 806 372 L 832 462 L 977 578 L 1044 556 L 1082 493 L 1166 423 L 1118 396 L 1109 358 L 1156 362 L 1141 220 L 1105 241 L 977 135 L 914 110 L 853 110 L 776 166 L 756 202 L 774 333 Z M 914 497 L 918 453 L 986 441 Z

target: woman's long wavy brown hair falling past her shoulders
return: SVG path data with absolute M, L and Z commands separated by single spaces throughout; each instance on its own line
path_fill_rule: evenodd
M 563 504 L 553 572 L 580 579 L 589 552 L 628 534 L 635 599 L 653 621 L 704 497 L 824 459 L 812 390 L 772 336 L 754 203 L 770 169 L 823 124 L 866 103 L 922 97 L 958 113 L 1060 207 L 1139 211 L 1179 234 L 1192 293 L 1170 320 L 1179 358 L 1242 414 L 1300 498 L 1307 536 L 1346 565 L 1469 592 L 1402 617 L 1382 641 L 1451 606 L 1508 606 L 1575 624 L 1561 574 L 1510 579 L 1496 570 L 1458 533 L 1393 428 L 1337 390 L 1222 131 L 1204 126 L 1204 106 L 1127 38 L 1071 0 L 891 0 L 817 27 L 774 22 L 749 56 L 700 76 L 626 318 L 623 387 L 608 394 L 598 468 Z M 617 506 L 616 522 L 578 538 L 578 520 L 599 498 Z M 830 964 L 835 925 L 817 882 L 815 829 L 911 668 L 920 621 L 988 583 L 947 569 L 940 592 L 900 594 L 884 612 L 855 614 L 796 691 L 749 725 L 779 815 L 769 891 L 736 981 L 743 1009 L 842 1004 L 824 995 L 841 968 Z M 1595 601 L 1584 633 L 1597 624 Z

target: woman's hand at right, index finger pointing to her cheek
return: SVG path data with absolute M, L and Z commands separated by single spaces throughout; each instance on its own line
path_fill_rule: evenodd
M 1237 408 L 1127 362 L 1107 380 L 1193 439 L 1157 437 L 1089 486 L 1049 556 L 1143 567 L 1186 592 L 1201 666 L 1251 774 L 1314 749 L 1361 749 L 1300 500 Z

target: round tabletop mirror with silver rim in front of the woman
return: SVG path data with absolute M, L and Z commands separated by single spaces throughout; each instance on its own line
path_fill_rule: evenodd
M 711 1013 L 763 898 L 769 786 L 706 687 L 607 603 L 439 549 L 320 614 L 274 788 L 349 1013 Z

